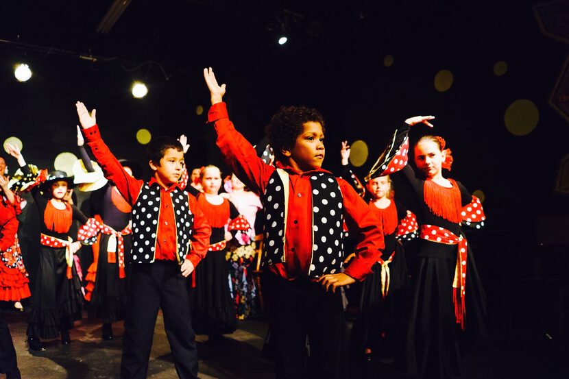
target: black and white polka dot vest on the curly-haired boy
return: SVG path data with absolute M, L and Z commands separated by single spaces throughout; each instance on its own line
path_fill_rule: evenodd
M 336 178 L 329 173 L 315 173 L 311 175 L 310 182 L 313 221 L 308 277 L 318 278 L 326 273 L 337 273 L 342 267 L 343 197 Z M 289 217 L 289 188 L 289 174 L 276 169 L 263 195 L 265 265 L 286 262 L 284 246 Z

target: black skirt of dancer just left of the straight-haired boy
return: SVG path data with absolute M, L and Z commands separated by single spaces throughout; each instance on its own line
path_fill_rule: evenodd
M 101 318 L 104 323 L 123 320 L 127 308 L 127 278 L 119 278 L 118 253 L 114 263 L 108 262 L 109 239 L 110 235 L 101 234 L 97 273 L 88 302 L 88 316 Z M 130 241 L 130 235 L 123 236 L 125 254 L 130 252 Z

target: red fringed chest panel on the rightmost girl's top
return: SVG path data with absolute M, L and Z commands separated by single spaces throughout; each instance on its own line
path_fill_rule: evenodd
M 425 180 L 423 196 L 426 205 L 435 215 L 442 217 L 452 223 L 460 223 L 462 220 L 460 189 L 452 179 L 452 188 L 446 188 L 433 182 Z

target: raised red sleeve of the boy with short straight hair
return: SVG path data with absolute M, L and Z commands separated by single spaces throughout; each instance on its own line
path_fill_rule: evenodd
M 95 160 L 99 163 L 101 169 L 103 169 L 105 178 L 117 186 L 119 193 L 123 195 L 128 204 L 134 206 L 136 197 L 138 197 L 138 193 L 141 192 L 144 182 L 142 180 L 132 178 L 132 176 L 128 175 L 128 173 L 123 169 L 119 160 L 112 155 L 106 143 L 101 139 L 99 127 L 96 124 L 84 129 L 83 134 L 87 141 L 87 145 L 89 145 L 93 152 L 93 156 L 95 156 Z

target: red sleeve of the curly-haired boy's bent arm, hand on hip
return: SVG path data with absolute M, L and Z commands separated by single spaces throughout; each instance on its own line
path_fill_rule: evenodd
M 372 272 L 372 266 L 385 249 L 381 223 L 346 180 L 338 178 L 338 183 L 342 191 L 346 225 L 358 241 L 356 257 L 346 267 L 345 273 L 356 280 L 363 280 Z

